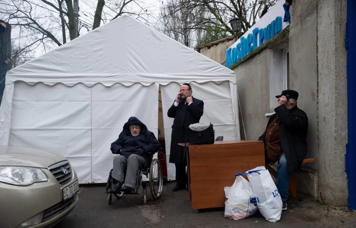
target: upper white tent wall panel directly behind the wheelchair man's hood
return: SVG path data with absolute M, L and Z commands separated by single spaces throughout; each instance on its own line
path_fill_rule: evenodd
M 138 83 L 131 87 L 95 85 L 92 87 L 92 128 L 117 128 L 119 135 L 127 120 L 136 116 L 147 128 L 158 129 L 158 86 L 158 83 L 147 87 Z M 157 136 L 158 130 L 153 133 Z

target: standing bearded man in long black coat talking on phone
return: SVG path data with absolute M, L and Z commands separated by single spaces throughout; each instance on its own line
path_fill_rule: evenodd
M 178 143 L 187 139 L 187 128 L 190 124 L 199 123 L 203 115 L 204 102 L 192 97 L 192 87 L 189 83 L 180 86 L 176 100 L 168 109 L 168 117 L 174 118 L 172 125 L 171 152 L 169 163 L 176 164 L 176 186 L 172 191 L 185 189 L 188 185 L 188 175 L 186 172 L 187 156 L 183 146 Z

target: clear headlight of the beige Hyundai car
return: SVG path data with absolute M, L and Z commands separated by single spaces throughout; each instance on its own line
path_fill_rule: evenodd
M 47 175 L 39 168 L 23 166 L 0 166 L 0 182 L 26 186 L 48 181 Z

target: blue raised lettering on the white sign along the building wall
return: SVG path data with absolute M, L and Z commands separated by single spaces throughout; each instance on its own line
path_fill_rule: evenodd
M 226 51 L 226 67 L 230 67 L 240 59 L 244 58 L 248 53 L 255 50 L 262 43 L 269 40 L 282 30 L 282 17 L 276 17 L 276 20 L 267 25 L 266 28 L 255 28 L 247 37 L 241 37 L 240 43 L 234 48 L 229 48 Z M 258 35 L 258 38 L 257 38 Z

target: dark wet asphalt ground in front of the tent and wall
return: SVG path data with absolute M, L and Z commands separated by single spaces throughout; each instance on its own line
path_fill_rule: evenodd
M 303 199 L 288 203 L 288 211 L 282 213 L 281 221 L 267 222 L 261 214 L 242 220 L 224 217 L 224 209 L 206 209 L 195 212 L 187 191 L 172 192 L 174 183 L 165 183 L 163 195 L 153 201 L 149 190 L 147 205 L 142 205 L 142 195 L 113 197 L 112 204 L 106 201 L 105 187 L 80 187 L 79 202 L 75 209 L 54 228 L 268 228 L 268 227 L 354 227 L 356 213 L 346 208 L 330 208 Z

